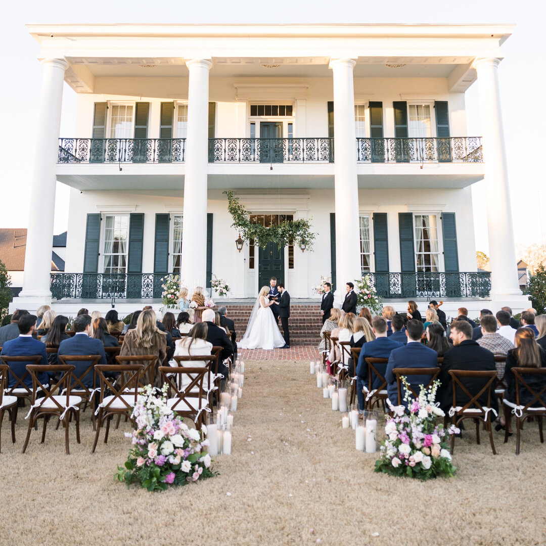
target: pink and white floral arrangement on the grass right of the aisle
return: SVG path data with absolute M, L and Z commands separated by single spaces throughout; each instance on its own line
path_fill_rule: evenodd
M 436 424 L 437 417 L 444 412 L 435 403 L 436 390 L 440 381 L 424 389 L 420 385 L 419 397 L 412 400 L 411 391 L 405 377 L 402 382 L 406 387 L 404 406 L 389 406 L 394 417 L 387 417 L 385 434 L 388 438 L 381 444 L 381 457 L 376 461 L 375 471 L 391 476 L 409 476 L 410 478 L 429 479 L 436 476 L 453 477 L 455 467 L 447 449 L 446 430 Z M 458 434 L 460 430 L 454 425 L 447 431 Z

